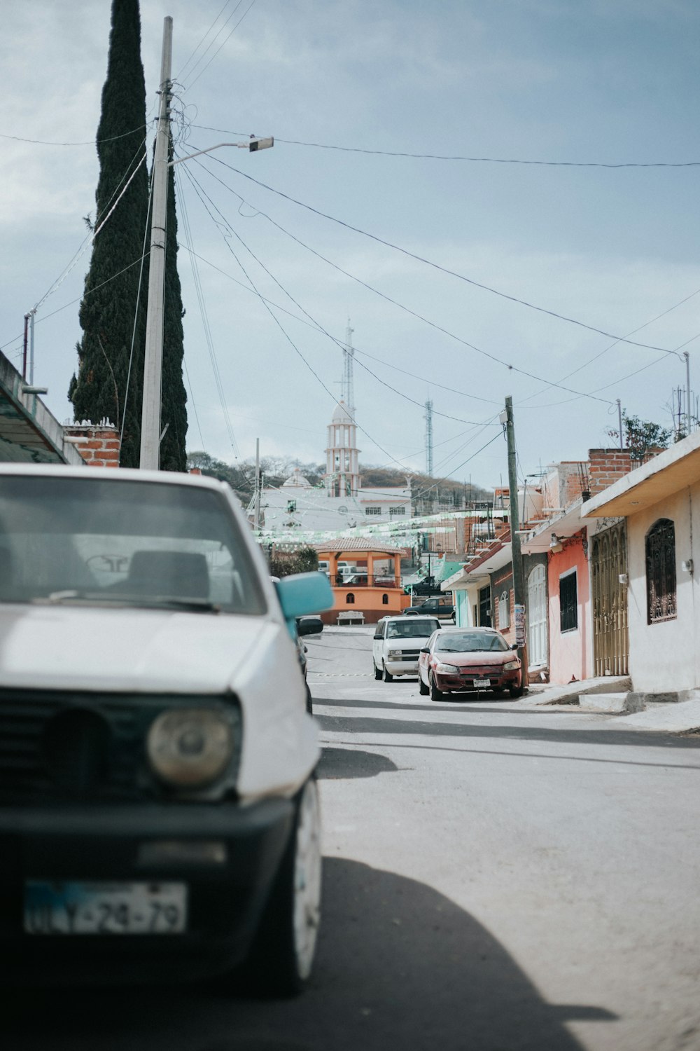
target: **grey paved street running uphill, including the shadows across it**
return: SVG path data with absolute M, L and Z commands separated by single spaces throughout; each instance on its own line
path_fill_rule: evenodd
M 374 680 L 366 628 L 307 645 L 326 860 L 305 995 L 35 991 L 3 1051 L 700 1049 L 700 737 L 432 704 Z

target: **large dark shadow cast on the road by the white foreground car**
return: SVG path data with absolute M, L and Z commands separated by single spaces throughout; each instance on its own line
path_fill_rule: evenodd
M 323 894 L 317 967 L 299 1000 L 34 990 L 5 1008 L 3 1051 L 580 1051 L 567 1021 L 615 1021 L 547 1004 L 480 923 L 424 884 L 334 858 Z

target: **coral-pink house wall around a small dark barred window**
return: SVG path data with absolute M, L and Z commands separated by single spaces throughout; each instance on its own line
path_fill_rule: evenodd
M 549 596 L 549 678 L 550 682 L 566 683 L 593 675 L 593 639 L 591 620 L 591 586 L 588 558 L 584 553 L 584 535 L 566 540 L 558 553 L 550 553 L 547 565 Z M 559 579 L 576 571 L 577 627 L 560 631 Z

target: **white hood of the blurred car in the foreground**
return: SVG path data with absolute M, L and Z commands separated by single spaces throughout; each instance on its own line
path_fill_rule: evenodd
M 0 684 L 224 693 L 284 626 L 263 617 L 0 604 Z

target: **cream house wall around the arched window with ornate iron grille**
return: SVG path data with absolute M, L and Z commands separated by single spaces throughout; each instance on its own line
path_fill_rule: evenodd
M 658 518 L 676 534 L 675 620 L 646 623 L 645 537 Z M 628 618 L 630 675 L 639 693 L 669 693 L 700 686 L 700 483 L 628 518 Z M 692 558 L 694 575 L 681 569 Z

